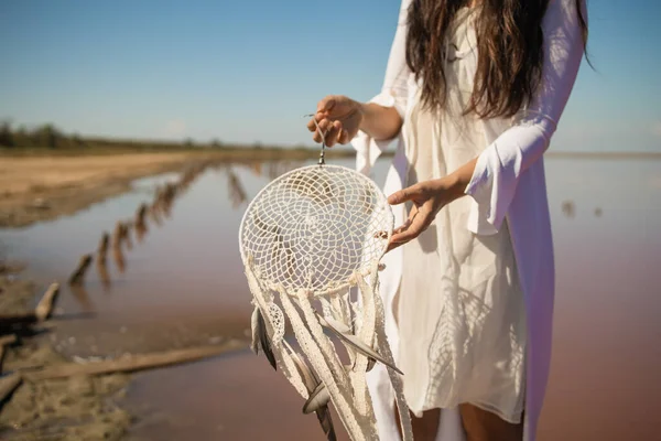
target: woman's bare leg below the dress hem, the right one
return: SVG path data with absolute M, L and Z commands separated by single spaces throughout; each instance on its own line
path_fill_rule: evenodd
M 460 405 L 466 441 L 522 441 L 523 422 L 512 424 L 473 405 Z

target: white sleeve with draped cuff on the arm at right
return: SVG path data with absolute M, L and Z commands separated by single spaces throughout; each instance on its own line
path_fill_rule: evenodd
M 584 1 L 582 1 L 585 13 Z M 530 105 L 477 159 L 465 193 L 477 202 L 468 229 L 496 233 L 514 197 L 521 174 L 549 148 L 570 98 L 584 54 L 575 0 L 551 0 L 544 15 L 542 82 Z M 585 17 L 585 14 L 584 14 Z

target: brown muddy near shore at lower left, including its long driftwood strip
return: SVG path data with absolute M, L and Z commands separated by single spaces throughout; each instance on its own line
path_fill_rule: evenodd
M 23 279 L 24 270 L 24 265 L 0 261 L 0 311 L 4 315 L 32 310 L 39 284 Z M 170 351 L 154 351 L 145 345 L 128 358 L 126 354 L 80 357 L 58 349 L 57 313 L 53 319 L 11 330 L 0 326 L 0 337 L 8 340 L 0 357 L 0 390 L 7 390 L 6 385 L 14 378 L 19 381 L 0 397 L 3 440 L 120 441 L 139 421 L 126 402 L 134 372 L 185 365 L 247 347 L 240 340 L 218 338 L 214 344 L 183 349 L 172 345 Z M 15 342 L 9 341 L 12 335 Z

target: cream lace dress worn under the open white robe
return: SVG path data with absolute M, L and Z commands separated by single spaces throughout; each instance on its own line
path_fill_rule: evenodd
M 475 116 L 464 116 L 476 56 L 468 9 L 446 51 L 446 109 L 418 100 L 403 133 L 410 146 L 408 185 L 444 176 L 487 146 Z M 470 198 L 447 205 L 405 245 L 395 300 L 404 395 L 416 415 L 469 402 L 518 423 L 524 398 L 525 308 L 507 222 L 490 236 L 466 228 Z

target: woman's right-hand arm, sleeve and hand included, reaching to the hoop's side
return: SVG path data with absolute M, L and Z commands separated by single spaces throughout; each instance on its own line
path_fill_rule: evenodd
M 445 178 L 422 182 L 389 197 L 391 204 L 415 202 L 409 223 L 393 235 L 391 248 L 418 237 L 444 205 L 464 194 L 472 195 L 480 207 L 479 215 L 468 225 L 472 232 L 492 234 L 500 228 L 521 173 L 549 148 L 584 54 L 574 0 L 551 0 L 542 26 L 542 84 L 530 106 L 478 158 Z

